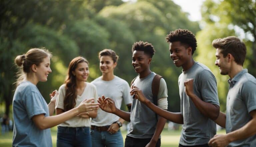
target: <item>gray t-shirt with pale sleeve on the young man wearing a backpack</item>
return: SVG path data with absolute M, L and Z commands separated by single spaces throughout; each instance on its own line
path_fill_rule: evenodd
M 151 73 L 144 78 L 139 76 L 134 80 L 134 85 L 142 90 L 143 94 L 153 103 L 152 80 L 155 73 Z M 157 98 L 168 97 L 167 86 L 163 78 L 161 78 Z M 167 101 L 166 101 L 167 102 Z M 127 136 L 133 138 L 152 138 L 157 124 L 156 113 L 148 108 L 145 104 L 137 99 L 132 101 L 132 109 L 130 116 L 130 130 Z

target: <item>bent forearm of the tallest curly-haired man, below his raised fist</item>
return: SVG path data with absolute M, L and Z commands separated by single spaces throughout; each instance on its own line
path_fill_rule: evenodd
M 197 95 L 189 95 L 197 109 L 206 117 L 216 120 L 219 116 L 220 107 L 209 102 L 201 100 Z

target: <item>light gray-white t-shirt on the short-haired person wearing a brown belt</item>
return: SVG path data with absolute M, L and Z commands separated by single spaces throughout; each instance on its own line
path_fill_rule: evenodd
M 122 100 L 124 100 L 126 105 L 132 103 L 129 84 L 118 76 L 115 76 L 114 79 L 110 81 L 102 80 L 102 76 L 100 76 L 91 83 L 96 86 L 99 96 L 104 95 L 105 97 L 113 99 L 118 109 L 121 107 Z M 92 119 L 91 124 L 96 126 L 106 126 L 118 121 L 118 119 L 119 117 L 117 115 L 98 109 L 97 117 Z

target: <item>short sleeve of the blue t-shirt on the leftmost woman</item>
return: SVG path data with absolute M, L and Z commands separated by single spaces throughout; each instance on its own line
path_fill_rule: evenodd
M 45 102 L 45 100 L 42 99 L 42 95 L 40 93 L 34 91 L 27 93 L 23 102 L 29 119 L 35 115 L 46 114 L 43 107 L 43 102 Z

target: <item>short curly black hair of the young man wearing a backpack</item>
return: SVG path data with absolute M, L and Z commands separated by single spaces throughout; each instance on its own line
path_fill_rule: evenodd
M 155 54 L 155 49 L 154 49 L 153 45 L 148 42 L 143 42 L 143 41 L 135 42 L 133 44 L 132 53 L 134 51 L 144 51 L 144 53 L 149 55 L 150 58 L 152 58 L 153 55 Z

